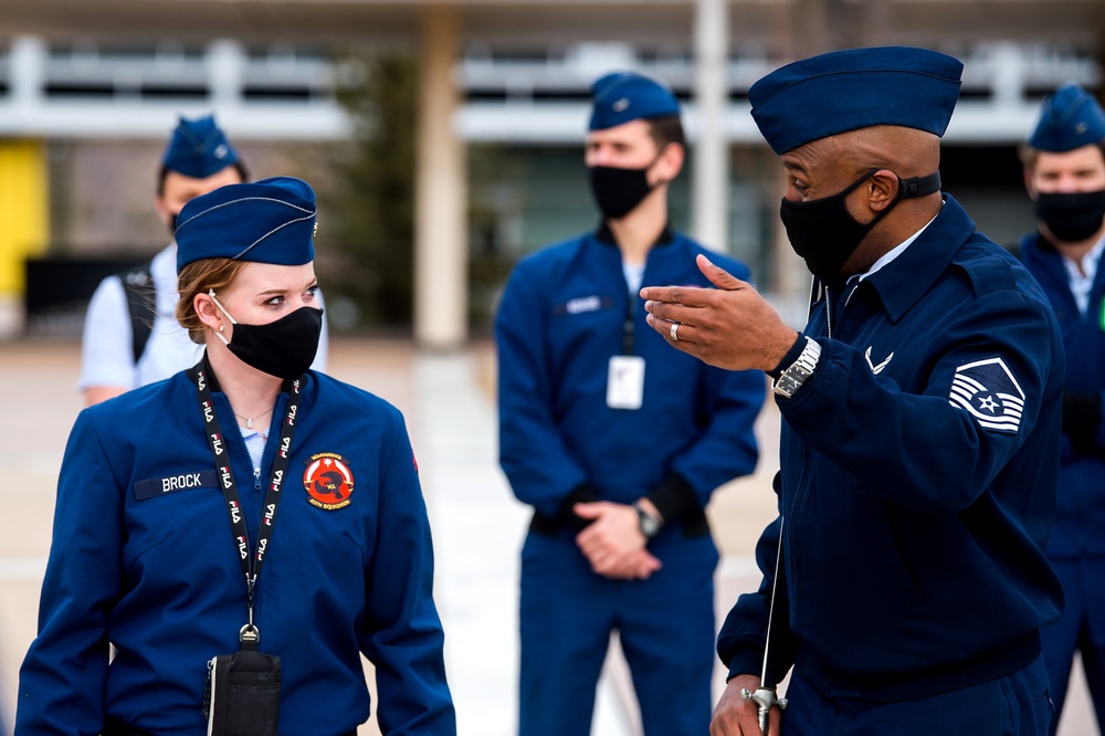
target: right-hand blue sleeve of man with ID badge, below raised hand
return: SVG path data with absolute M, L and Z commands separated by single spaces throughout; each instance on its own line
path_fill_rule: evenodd
M 756 470 L 754 425 L 767 379 L 759 370 L 707 368 L 704 392 L 706 425 L 672 463 L 672 471 L 686 479 L 703 508 L 715 488 Z

